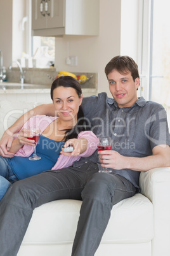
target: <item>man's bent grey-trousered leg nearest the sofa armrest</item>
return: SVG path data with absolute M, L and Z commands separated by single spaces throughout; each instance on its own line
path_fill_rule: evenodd
M 120 175 L 94 174 L 82 190 L 81 213 L 72 256 L 93 256 L 107 227 L 112 206 L 135 193 L 136 188 Z

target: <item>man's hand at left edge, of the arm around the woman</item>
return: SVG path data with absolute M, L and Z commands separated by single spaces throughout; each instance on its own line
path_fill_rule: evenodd
M 8 132 L 4 132 L 1 140 L 0 140 L 0 155 L 2 157 L 8 157 L 11 158 L 14 156 L 14 153 L 8 152 L 11 148 L 11 144 L 13 142 L 13 136 L 8 134 Z

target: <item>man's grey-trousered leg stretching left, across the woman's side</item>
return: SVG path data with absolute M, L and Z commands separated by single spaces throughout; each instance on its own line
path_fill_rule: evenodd
M 16 255 L 34 208 L 57 199 L 81 200 L 84 183 L 98 171 L 96 167 L 89 173 L 89 166 L 47 171 L 16 181 L 8 188 L 0 203 L 1 256 Z

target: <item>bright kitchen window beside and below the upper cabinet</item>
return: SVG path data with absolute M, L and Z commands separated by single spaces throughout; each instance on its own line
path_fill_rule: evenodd
M 20 60 L 23 67 L 32 68 L 33 64 L 33 68 L 49 68 L 55 61 L 55 38 L 31 36 L 31 2 L 13 2 L 13 60 Z M 26 59 L 29 59 L 27 64 Z

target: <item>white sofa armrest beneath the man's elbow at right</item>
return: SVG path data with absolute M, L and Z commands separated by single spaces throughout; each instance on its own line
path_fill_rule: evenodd
M 154 205 L 153 256 L 170 255 L 170 167 L 140 174 L 141 193 Z

